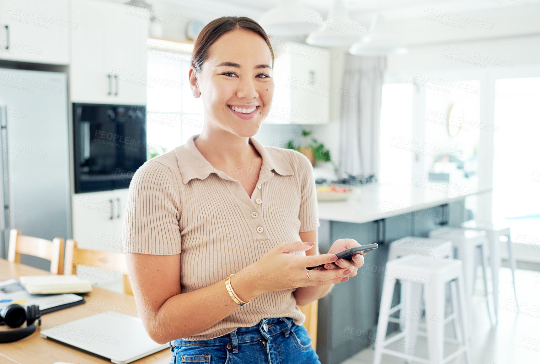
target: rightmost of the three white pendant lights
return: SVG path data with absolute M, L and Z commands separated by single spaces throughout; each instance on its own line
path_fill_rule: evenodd
M 386 20 L 380 13 L 374 16 L 372 28 L 373 35 L 354 43 L 350 46 L 349 53 L 355 56 L 386 56 L 408 52 L 401 40 L 390 33 Z

